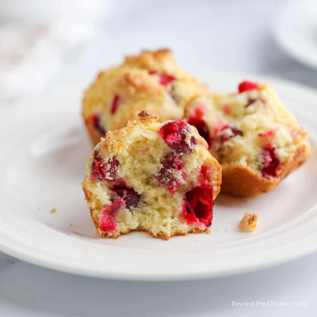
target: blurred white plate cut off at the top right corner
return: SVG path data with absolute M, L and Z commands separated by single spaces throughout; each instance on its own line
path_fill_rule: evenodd
M 296 60 L 317 68 L 317 2 L 284 1 L 275 14 L 273 36 Z

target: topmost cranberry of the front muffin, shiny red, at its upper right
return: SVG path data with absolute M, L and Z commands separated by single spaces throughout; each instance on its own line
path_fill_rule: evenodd
M 159 129 L 158 133 L 176 154 L 188 154 L 196 144 L 194 136 L 191 137 L 190 144 L 186 142 L 186 135 L 190 133 L 190 130 L 187 123 L 182 120 L 174 120 L 166 123 Z

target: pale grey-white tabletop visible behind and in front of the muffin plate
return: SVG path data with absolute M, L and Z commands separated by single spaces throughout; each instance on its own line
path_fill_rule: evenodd
M 85 87 L 100 68 L 140 48 L 169 47 L 193 73 L 274 75 L 317 88 L 317 72 L 285 55 L 271 36 L 280 2 L 124 1 L 99 21 L 98 42 L 51 80 Z M 233 87 L 232 87 L 233 88 Z M 268 206 L 269 207 L 269 206 Z M 0 253 L 0 316 L 315 316 L 317 254 L 262 271 L 191 282 L 125 282 L 68 275 Z M 232 301 L 266 303 L 232 307 Z M 267 306 L 290 302 L 290 307 Z M 306 302 L 307 307 L 294 307 Z M 269 303 L 268 303 L 269 302 Z

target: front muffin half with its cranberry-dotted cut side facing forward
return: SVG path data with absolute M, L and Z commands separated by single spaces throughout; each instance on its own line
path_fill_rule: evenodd
M 167 240 L 208 229 L 220 183 L 221 167 L 196 128 L 142 111 L 101 139 L 82 187 L 101 236 L 138 230 Z

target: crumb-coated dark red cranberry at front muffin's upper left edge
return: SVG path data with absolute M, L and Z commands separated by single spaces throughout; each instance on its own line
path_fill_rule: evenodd
M 112 180 L 116 173 L 120 162 L 113 157 L 108 159 L 107 163 L 100 158 L 99 152 L 94 152 L 94 163 L 91 166 L 91 179 L 94 182 L 96 179 L 108 182 Z

